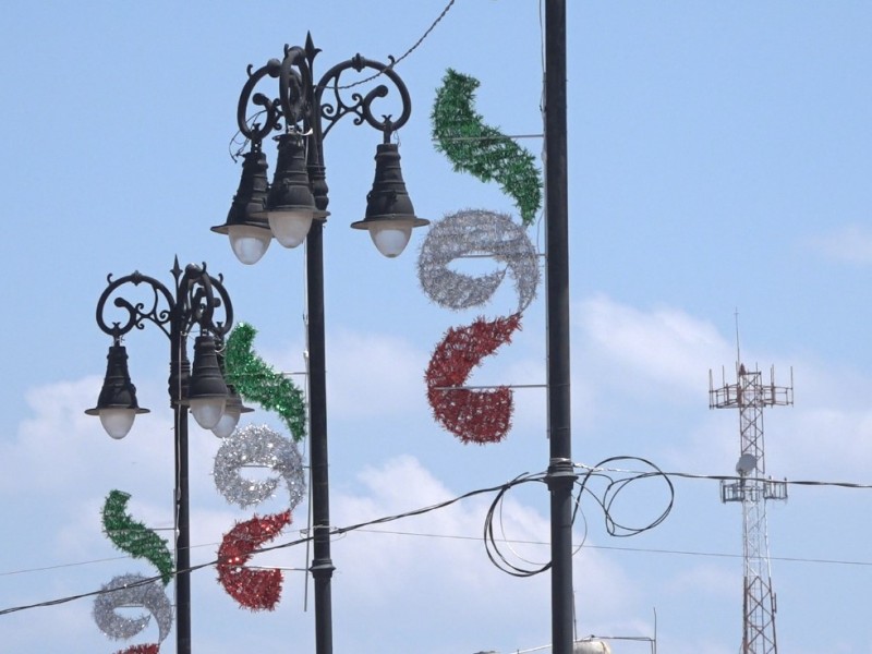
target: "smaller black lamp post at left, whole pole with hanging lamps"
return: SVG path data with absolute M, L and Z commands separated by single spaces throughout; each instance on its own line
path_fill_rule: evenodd
M 175 259 L 173 288 L 158 280 L 133 272 L 113 280 L 97 302 L 97 325 L 112 337 L 106 378 L 97 405 L 85 413 L 99 415 L 112 438 L 123 438 L 133 426 L 134 417 L 147 413 L 136 401 L 136 388 L 128 373 L 128 354 L 122 337 L 143 329 L 147 322 L 157 325 L 170 340 L 169 393 L 175 417 L 175 629 L 179 654 L 191 652 L 191 534 L 187 480 L 187 411 L 204 428 L 216 435 L 233 431 L 245 409 L 232 387 L 225 384 L 217 350 L 233 322 L 230 298 L 220 276 L 211 277 L 205 264 L 189 265 L 184 270 Z M 132 284 L 150 291 L 146 302 L 131 302 L 120 295 Z M 146 291 L 146 295 L 148 292 Z M 108 320 L 107 302 L 121 310 L 121 320 Z M 221 314 L 216 316 L 216 310 Z M 123 315 L 126 312 L 126 315 Z M 221 319 L 218 319 L 221 318 Z M 196 334 L 193 366 L 187 359 L 187 338 Z

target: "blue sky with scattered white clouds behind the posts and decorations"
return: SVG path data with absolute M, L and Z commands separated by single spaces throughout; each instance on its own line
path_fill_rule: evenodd
M 110 440 L 93 407 L 107 338 L 94 322 L 106 276 L 138 269 L 169 282 L 178 254 L 225 276 L 239 320 L 280 370 L 304 349 L 302 250 L 274 244 L 244 267 L 223 221 L 239 181 L 228 155 L 246 66 L 280 57 L 306 32 L 320 71 L 361 52 L 400 56 L 445 8 L 338 0 L 287 5 L 164 1 L 15 2 L 0 24 L 5 126 L 5 237 L 0 244 L 4 370 L 0 417 L 0 608 L 98 589 L 145 572 L 100 533 L 112 488 L 156 528 L 172 522 L 167 341 L 128 339 L 152 413 Z M 664 470 L 729 474 L 738 415 L 707 408 L 708 370 L 729 372 L 739 314 L 746 363 L 792 368 L 796 404 L 765 414 L 775 477 L 870 482 L 872 322 L 872 7 L 864 2 L 569 2 L 568 114 L 573 457 L 637 456 Z M 399 66 L 413 100 L 400 132 L 421 216 L 474 207 L 517 216 L 494 184 L 451 170 L 433 146 L 429 110 L 445 71 L 481 81 L 477 110 L 508 134 L 542 131 L 540 10 L 532 0 L 457 0 Z M 377 135 L 338 125 L 325 145 L 325 232 L 332 522 L 399 513 L 547 467 L 545 393 L 516 393 L 505 443 L 463 446 L 431 417 L 423 373 L 446 329 L 477 312 L 432 304 L 416 280 L 419 230 L 400 258 L 347 225 L 362 218 Z M 542 143 L 520 141 L 537 157 Z M 270 157 L 274 159 L 272 153 Z M 271 161 L 272 161 L 271 159 Z M 530 235 L 542 244 L 541 225 Z M 484 310 L 513 306 L 504 289 Z M 545 379 L 545 304 L 473 383 Z M 258 411 L 249 422 L 280 428 Z M 193 561 L 251 512 L 211 482 L 219 441 L 192 428 Z M 714 481 L 676 480 L 657 529 L 610 538 L 595 505 L 578 524 L 580 635 L 653 635 L 659 651 L 728 654 L 740 642 L 741 526 Z M 768 531 L 784 651 L 872 650 L 867 544 L 870 491 L 795 486 Z M 656 514 L 640 491 L 626 510 Z M 549 642 L 548 579 L 496 570 L 480 541 L 487 499 L 336 541 L 338 652 L 501 654 Z M 258 507 L 258 512 L 280 510 Z M 288 540 L 305 529 L 294 513 Z M 504 508 L 507 536 L 547 541 L 545 488 Z M 388 531 L 388 530 L 385 530 Z M 519 546 L 521 547 L 521 546 Z M 523 545 L 535 560 L 546 545 Z M 262 564 L 305 565 L 291 548 Z M 826 562 L 829 561 L 829 562 Z M 838 562 L 834 562 L 838 561 Z M 239 609 L 211 570 L 193 579 L 196 650 L 311 651 L 305 579 L 289 572 L 272 614 Z M 311 604 L 311 591 L 308 594 Z M 15 652 L 114 652 L 90 601 L 0 617 Z M 152 629 L 155 629 L 154 627 Z M 154 633 L 146 632 L 154 638 Z M 173 646 L 174 634 L 165 650 Z M 136 642 L 136 641 L 133 641 Z M 647 652 L 616 641 L 614 651 Z

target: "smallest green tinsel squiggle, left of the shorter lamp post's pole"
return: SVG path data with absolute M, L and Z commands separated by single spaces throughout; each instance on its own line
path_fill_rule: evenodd
M 144 558 L 160 572 L 164 585 L 172 579 L 173 562 L 167 541 L 128 516 L 130 494 L 111 491 L 102 507 L 102 528 L 116 547 L 134 558 Z

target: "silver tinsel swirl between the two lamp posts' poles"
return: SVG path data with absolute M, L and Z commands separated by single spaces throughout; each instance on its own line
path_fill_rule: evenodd
M 246 480 L 240 471 L 246 467 L 270 468 L 279 473 L 264 481 Z M 296 445 L 266 425 L 247 425 L 223 440 L 215 456 L 215 486 L 230 504 L 253 507 L 271 497 L 281 480 L 288 487 L 293 508 L 305 494 L 303 458 Z

